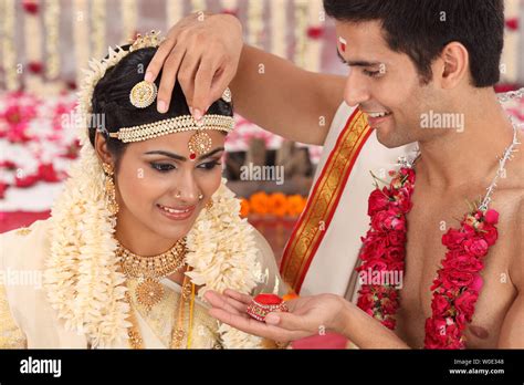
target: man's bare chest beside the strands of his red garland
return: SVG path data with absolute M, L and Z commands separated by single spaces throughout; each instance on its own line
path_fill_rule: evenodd
M 431 316 L 432 291 L 437 271 L 447 248 L 442 236 L 458 228 L 468 211 L 465 198 L 442 195 L 413 196 L 408 215 L 406 270 L 400 290 L 397 333 L 413 347 L 422 347 L 425 323 Z M 507 283 L 507 258 L 504 244 L 495 244 L 484 259 L 484 287 L 476 303 L 473 322 L 465 331 L 469 347 L 495 347 L 503 316 L 511 303 L 513 288 Z

